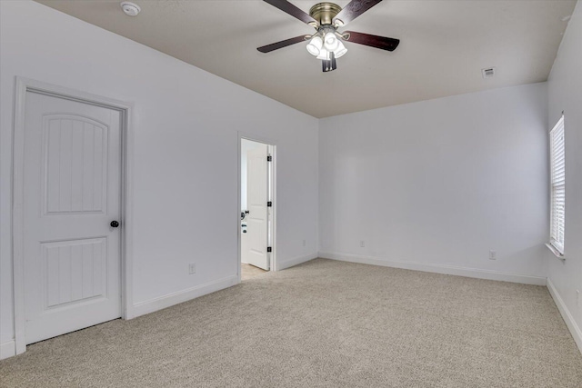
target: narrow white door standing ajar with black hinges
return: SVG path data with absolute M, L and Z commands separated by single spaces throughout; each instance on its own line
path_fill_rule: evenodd
M 267 146 L 261 144 L 246 153 L 246 260 L 264 270 L 269 269 L 266 252 L 267 219 Z

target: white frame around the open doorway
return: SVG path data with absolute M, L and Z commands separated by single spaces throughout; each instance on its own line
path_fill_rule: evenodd
M 243 139 L 250 140 L 256 143 L 262 143 L 271 146 L 272 148 L 272 164 L 271 164 L 271 176 L 269 179 L 269 186 L 271 188 L 272 198 L 271 201 L 273 202 L 273 206 L 271 207 L 271 257 L 270 257 L 270 264 L 269 269 L 270 271 L 278 271 L 277 264 L 276 264 L 276 143 L 268 138 L 257 136 L 256 134 L 245 134 L 242 132 L 238 132 L 238 198 L 236 199 L 237 209 L 238 212 L 236 214 L 236 235 L 238 240 L 238 254 L 236 255 L 236 268 L 238 272 L 238 283 L 240 283 L 240 276 L 241 276 L 241 229 L 240 229 L 240 211 L 241 211 L 241 200 L 240 200 L 240 190 L 241 190 L 241 142 Z

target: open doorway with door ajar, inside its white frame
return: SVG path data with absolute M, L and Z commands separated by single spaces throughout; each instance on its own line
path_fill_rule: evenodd
M 240 257 L 241 280 L 274 269 L 274 152 L 275 146 L 240 141 Z

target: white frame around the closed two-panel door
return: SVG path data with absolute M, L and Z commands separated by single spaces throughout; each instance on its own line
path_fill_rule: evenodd
M 25 271 L 24 271 L 24 164 L 25 164 L 25 107 L 26 93 L 52 95 L 84 104 L 114 109 L 121 114 L 121 316 L 134 317 L 133 313 L 133 129 L 134 104 L 117 101 L 100 95 L 90 95 L 65 87 L 45 84 L 16 76 L 15 126 L 13 151 L 12 242 L 13 242 L 13 292 L 15 318 L 15 351 L 25 353 Z

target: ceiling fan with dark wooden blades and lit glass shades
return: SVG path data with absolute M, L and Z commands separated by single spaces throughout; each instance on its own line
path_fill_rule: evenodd
M 399 39 L 385 36 L 356 33 L 355 31 L 343 33 L 337 31 L 338 28 L 347 25 L 382 0 L 352 0 L 344 9 L 334 3 L 318 3 L 311 7 L 309 15 L 286 0 L 264 1 L 307 25 L 311 25 L 316 29 L 316 33 L 314 35 L 299 35 L 271 45 L 258 47 L 257 50 L 261 53 L 270 53 L 287 45 L 295 45 L 308 40 L 307 51 L 309 54 L 321 59 L 323 71 L 330 72 L 337 68 L 336 59 L 347 53 L 346 46 L 342 41 L 369 45 L 387 51 L 394 51 L 400 43 Z

